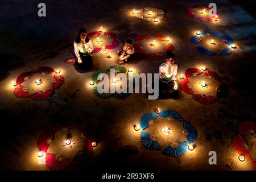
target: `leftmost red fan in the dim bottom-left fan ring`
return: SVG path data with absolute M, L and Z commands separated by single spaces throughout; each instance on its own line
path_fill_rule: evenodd
M 38 142 L 36 144 L 40 151 L 47 152 L 49 148 L 49 141 L 52 139 L 54 134 L 54 130 L 47 130 L 38 138 Z

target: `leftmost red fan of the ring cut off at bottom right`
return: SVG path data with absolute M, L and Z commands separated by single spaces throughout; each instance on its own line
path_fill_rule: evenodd
M 243 155 L 246 159 L 251 160 L 251 155 L 250 155 L 250 152 L 248 150 L 248 146 L 245 143 L 245 140 L 243 140 L 241 135 L 237 135 L 236 137 L 234 137 L 234 139 L 232 141 L 232 146 L 234 147 L 234 150 L 239 155 Z

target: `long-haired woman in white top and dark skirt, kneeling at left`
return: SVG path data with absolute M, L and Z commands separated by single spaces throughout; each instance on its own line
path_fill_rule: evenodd
M 79 30 L 76 40 L 74 41 L 75 65 L 81 70 L 89 70 L 93 67 L 91 52 L 93 50 L 92 41 L 87 38 L 87 32 L 84 28 Z

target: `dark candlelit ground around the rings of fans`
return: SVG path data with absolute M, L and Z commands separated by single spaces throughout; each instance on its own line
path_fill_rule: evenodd
M 205 1 L 206 2 L 206 1 Z M 1 5 L 1 170 L 49 170 L 36 160 L 36 140 L 56 122 L 76 119 L 96 133 L 98 146 L 88 163 L 72 169 L 147 169 L 147 170 L 253 170 L 250 162 L 241 163 L 232 147 L 242 121 L 255 121 L 255 13 L 253 1 L 231 3 L 216 1 L 221 20 L 203 23 L 185 16 L 188 5 L 204 1 L 44 1 L 47 17 L 37 16 L 39 1 L 6 1 Z M 146 6 L 166 13 L 158 24 L 132 17 L 128 12 Z M 203 105 L 180 91 L 177 99 L 148 100 L 145 94 L 131 94 L 125 100 L 96 97 L 88 85 L 92 73 L 117 63 L 101 53 L 93 56 L 93 69 L 77 72 L 64 63 L 73 57 L 77 31 L 88 32 L 102 26 L 117 34 L 119 47 L 126 38 L 140 34 L 170 36 L 175 47 L 178 74 L 187 68 L 205 65 L 224 78 L 226 94 L 211 105 Z M 214 30 L 232 37 L 239 47 L 229 56 L 205 56 L 191 43 L 195 31 Z M 113 55 L 117 49 L 112 50 Z M 162 60 L 137 57 L 126 64 L 137 73 L 158 73 Z M 61 69 L 64 85 L 43 101 L 19 99 L 13 94 L 11 80 L 41 66 Z M 175 109 L 198 131 L 195 150 L 181 158 L 170 158 L 143 146 L 140 131 L 133 125 L 156 108 Z M 255 141 L 255 137 L 254 137 Z M 209 165 L 208 152 L 217 152 L 217 165 Z M 255 150 L 255 147 L 254 147 Z M 255 154 L 255 152 L 254 152 Z M 254 160 L 256 156 L 253 156 Z

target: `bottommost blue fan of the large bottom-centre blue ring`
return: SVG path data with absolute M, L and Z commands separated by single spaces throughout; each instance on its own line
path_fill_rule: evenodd
M 169 156 L 179 157 L 185 154 L 187 149 L 188 149 L 188 143 L 184 141 L 179 143 L 172 143 L 170 146 L 165 147 L 163 151 Z

